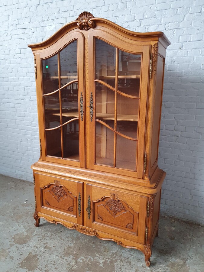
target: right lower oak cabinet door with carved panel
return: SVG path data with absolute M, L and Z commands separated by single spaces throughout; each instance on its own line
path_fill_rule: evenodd
M 86 184 L 86 226 L 145 242 L 147 197 Z

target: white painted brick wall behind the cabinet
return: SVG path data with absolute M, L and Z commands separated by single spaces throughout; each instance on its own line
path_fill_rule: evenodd
M 204 222 L 203 0 L 1 0 L 0 173 L 32 180 L 39 157 L 34 62 L 27 44 L 47 39 L 82 11 L 132 31 L 164 31 L 167 48 L 159 166 L 161 211 Z

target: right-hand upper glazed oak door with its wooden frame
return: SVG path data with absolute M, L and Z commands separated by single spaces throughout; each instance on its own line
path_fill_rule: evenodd
M 94 143 L 89 167 L 142 177 L 150 47 L 109 36 L 92 37 L 95 69 L 89 85 L 93 90 L 89 137 Z

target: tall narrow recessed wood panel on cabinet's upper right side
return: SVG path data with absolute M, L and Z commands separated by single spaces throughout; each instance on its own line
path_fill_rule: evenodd
M 163 77 L 164 77 L 164 58 L 158 56 L 157 64 L 157 79 L 155 89 L 154 101 L 154 123 L 152 131 L 152 150 L 151 150 L 151 168 L 153 167 L 158 155 L 159 144 L 159 130 L 160 130 L 160 116 L 161 116 L 161 100 L 163 90 Z

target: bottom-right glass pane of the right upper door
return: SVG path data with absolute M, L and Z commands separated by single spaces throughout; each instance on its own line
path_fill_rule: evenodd
M 116 134 L 116 167 L 136 170 L 137 141 Z

